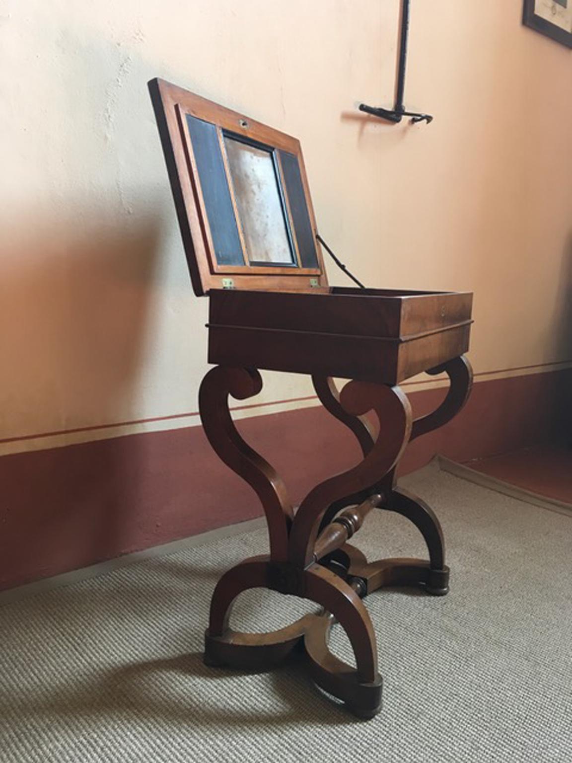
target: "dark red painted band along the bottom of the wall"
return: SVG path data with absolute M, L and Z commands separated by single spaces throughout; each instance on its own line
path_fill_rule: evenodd
M 570 432 L 570 387 L 572 369 L 479 381 L 455 420 L 410 445 L 400 472 L 436 452 L 465 462 Z M 411 393 L 415 414 L 444 394 Z M 360 458 L 351 433 L 321 407 L 237 427 L 284 476 L 294 504 Z M 218 462 L 201 427 L 2 456 L 0 484 L 0 590 L 261 514 L 254 492 Z

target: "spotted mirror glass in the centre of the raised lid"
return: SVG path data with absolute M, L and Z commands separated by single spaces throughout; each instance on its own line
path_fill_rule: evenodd
M 249 262 L 296 266 L 272 151 L 224 136 Z

